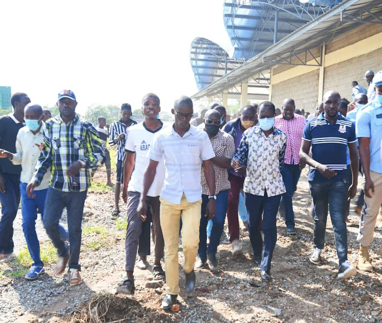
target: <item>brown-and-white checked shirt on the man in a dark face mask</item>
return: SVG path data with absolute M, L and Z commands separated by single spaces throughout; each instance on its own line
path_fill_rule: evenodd
M 198 128 L 204 130 L 204 123 L 202 123 Z M 226 157 L 232 159 L 233 153 L 235 152 L 235 143 L 233 137 L 226 132 L 219 130 L 215 137 L 210 139 L 213 152 L 216 157 Z M 226 168 L 217 166 L 212 163 L 213 169 L 215 171 L 215 194 L 219 194 L 221 191 L 231 188 L 231 184 L 228 181 L 228 171 Z M 201 178 L 203 194 L 209 195 L 208 185 L 206 177 L 204 175 L 204 167 L 202 165 Z

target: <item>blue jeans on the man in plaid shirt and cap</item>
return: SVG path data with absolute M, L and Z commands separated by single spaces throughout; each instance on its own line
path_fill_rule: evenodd
M 63 192 L 50 186 L 48 187 L 48 192 L 46 194 L 47 203 L 45 203 L 43 223 L 46 233 L 58 250 L 59 257 L 66 257 L 68 255 L 68 251 L 66 250 L 64 241 L 61 240 L 59 231 L 59 220 L 64 207 L 66 207 L 68 212 L 70 269 L 81 269 L 78 261 L 81 247 L 81 223 L 86 194 L 87 190 L 83 192 Z

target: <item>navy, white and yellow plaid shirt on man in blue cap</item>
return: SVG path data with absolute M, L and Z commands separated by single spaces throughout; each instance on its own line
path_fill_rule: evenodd
M 51 166 L 49 185 L 63 192 L 81 192 L 90 186 L 90 168 L 100 166 L 104 154 L 101 140 L 94 126 L 85 120 L 74 119 L 65 124 L 58 115 L 46 121 L 43 133 L 45 147 L 36 165 L 33 180 L 38 184 Z M 80 160 L 86 163 L 74 177 L 66 171 Z

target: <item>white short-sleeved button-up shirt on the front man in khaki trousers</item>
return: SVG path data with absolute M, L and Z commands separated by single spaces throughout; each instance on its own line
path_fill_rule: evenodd
M 173 204 L 180 204 L 183 193 L 187 202 L 202 198 L 200 173 L 202 161 L 215 157 L 208 135 L 194 126 L 181 137 L 174 125 L 154 136 L 149 157 L 165 160 L 166 176 L 160 196 Z M 212 193 L 212 192 L 211 192 Z

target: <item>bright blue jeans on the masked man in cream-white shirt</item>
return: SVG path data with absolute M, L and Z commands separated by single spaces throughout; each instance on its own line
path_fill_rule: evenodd
M 29 254 L 33 260 L 33 266 L 43 267 L 44 263 L 40 258 L 40 242 L 37 238 L 36 233 L 36 219 L 37 219 L 37 208 L 41 212 L 41 218 L 44 219 L 44 206 L 47 189 L 35 190 L 35 198 L 30 198 L 26 194 L 26 183 L 20 183 L 20 193 L 21 193 L 21 214 L 22 214 L 22 231 L 24 232 L 24 237 L 26 245 L 28 246 Z M 59 224 L 59 234 L 60 238 L 64 241 L 69 240 L 68 231 Z

